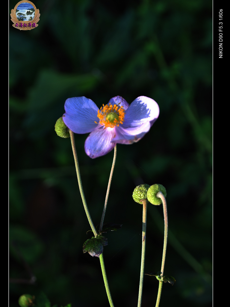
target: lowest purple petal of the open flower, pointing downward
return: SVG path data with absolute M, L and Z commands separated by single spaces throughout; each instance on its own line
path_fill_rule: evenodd
M 104 156 L 111 151 L 116 143 L 111 140 L 115 135 L 114 128 L 104 128 L 104 126 L 91 132 L 86 138 L 85 152 L 90 158 Z

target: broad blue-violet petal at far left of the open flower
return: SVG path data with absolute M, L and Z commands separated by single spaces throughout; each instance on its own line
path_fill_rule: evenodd
M 98 107 L 84 96 L 66 99 L 65 111 L 63 121 L 74 133 L 88 133 L 102 126 L 95 123 L 98 122 Z

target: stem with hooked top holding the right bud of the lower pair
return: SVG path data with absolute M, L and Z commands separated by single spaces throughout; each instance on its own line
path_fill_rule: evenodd
M 163 256 L 162 256 L 162 263 L 161 263 L 161 276 L 164 274 L 164 264 L 165 264 L 165 256 L 166 256 L 166 247 L 167 247 L 167 238 L 168 238 L 168 214 L 167 214 L 167 203 L 166 199 L 161 191 L 159 191 L 156 195 L 162 200 L 163 203 L 163 212 L 164 212 L 164 246 L 163 246 Z M 156 307 L 159 306 L 160 303 L 160 296 L 162 291 L 163 281 L 159 281 L 159 288 L 158 288 L 158 295 L 156 299 Z

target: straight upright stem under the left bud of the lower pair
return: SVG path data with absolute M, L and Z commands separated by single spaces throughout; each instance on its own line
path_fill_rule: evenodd
M 147 218 L 147 204 L 148 200 L 143 199 L 143 216 L 142 216 L 142 249 L 141 249 L 141 265 L 140 265 L 140 285 L 137 307 L 141 306 L 143 281 L 144 281 L 144 261 L 145 261 L 145 242 L 146 242 L 146 218 Z

